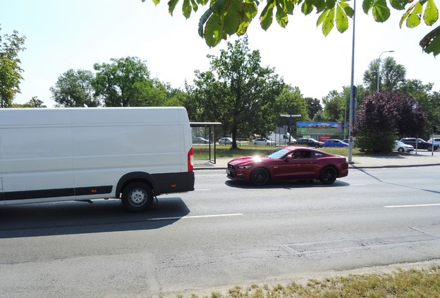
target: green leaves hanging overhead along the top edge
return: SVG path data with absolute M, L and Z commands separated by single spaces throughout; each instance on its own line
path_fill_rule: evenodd
M 145 2 L 146 0 L 142 0 Z M 160 0 L 152 0 L 156 5 Z M 179 0 L 168 2 L 169 14 L 173 14 Z M 192 11 L 199 10 L 199 6 L 209 3 L 199 21 L 199 35 L 205 39 L 208 46 L 217 46 L 221 39 L 227 39 L 232 34 L 243 35 L 258 13 L 259 1 L 257 0 L 183 0 L 182 14 L 189 18 Z M 389 19 L 390 7 L 396 10 L 405 10 L 400 27 L 414 28 L 421 21 L 427 26 L 432 26 L 439 19 L 439 10 L 434 0 L 363 0 L 362 8 L 365 14 L 372 12 L 377 22 Z M 285 28 L 288 16 L 300 10 L 304 15 L 315 12 L 318 14 L 316 26 L 321 26 L 322 33 L 327 36 L 336 26 L 339 32 L 349 28 L 349 18 L 354 16 L 354 8 L 349 5 L 349 0 L 266 0 L 266 5 L 259 14 L 260 25 L 267 30 L 273 19 Z M 440 26 L 434 28 L 420 41 L 423 51 L 434 56 L 440 53 Z

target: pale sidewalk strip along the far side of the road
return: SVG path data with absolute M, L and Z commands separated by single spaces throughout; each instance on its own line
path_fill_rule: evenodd
M 232 158 L 218 158 L 216 163 L 207 160 L 194 160 L 194 170 L 226 170 L 228 161 Z M 396 168 L 413 166 L 440 166 L 440 152 L 421 151 L 415 154 L 373 156 L 373 157 L 352 157 L 353 163 L 350 168 Z

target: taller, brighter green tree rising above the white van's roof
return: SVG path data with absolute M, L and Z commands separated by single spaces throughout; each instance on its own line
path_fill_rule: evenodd
M 93 87 L 104 106 L 136 106 L 148 95 L 151 87 L 149 70 L 138 57 L 111 59 L 111 63 L 95 63 Z

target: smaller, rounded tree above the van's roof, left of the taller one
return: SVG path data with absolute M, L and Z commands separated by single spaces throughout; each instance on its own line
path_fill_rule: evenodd
M 93 80 L 95 76 L 89 70 L 67 70 L 60 75 L 51 87 L 52 99 L 57 107 L 96 107 L 100 102 L 95 97 Z

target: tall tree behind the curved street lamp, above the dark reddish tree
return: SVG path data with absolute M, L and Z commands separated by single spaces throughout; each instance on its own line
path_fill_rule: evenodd
M 379 86 L 381 91 L 396 91 L 405 82 L 405 66 L 397 64 L 393 57 L 386 57 L 383 61 L 376 59 L 369 63 L 368 69 L 364 72 L 364 83 L 370 93 L 377 91 L 378 66 L 380 66 Z

